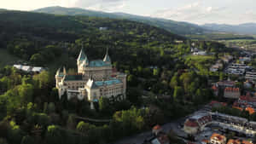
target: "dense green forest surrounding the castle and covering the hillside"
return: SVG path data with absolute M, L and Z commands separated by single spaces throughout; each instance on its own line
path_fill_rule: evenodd
M 48 69 L 34 74 L 0 68 L 0 141 L 9 144 L 103 144 L 181 118 L 212 100 L 208 77 L 218 80 L 219 73 L 201 65 L 232 52 L 221 43 L 192 41 L 134 21 L 87 16 L 3 10 L 0 30 L 1 50 L 19 58 L 20 64 Z M 215 55 L 200 61 L 189 57 L 192 43 Z M 88 101 L 67 101 L 65 96 L 59 100 L 55 70 L 66 66 L 68 72 L 76 71 L 82 48 L 89 59 L 102 59 L 109 48 L 113 66 L 128 74 L 127 100 L 101 99 L 96 111 Z M 94 124 L 79 118 L 110 121 Z

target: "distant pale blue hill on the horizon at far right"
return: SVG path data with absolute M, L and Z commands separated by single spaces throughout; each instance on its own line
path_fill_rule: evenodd
M 202 26 L 205 29 L 217 31 L 217 32 L 230 32 L 237 34 L 256 34 L 255 23 L 245 23 L 241 25 L 219 25 L 219 24 L 206 24 Z

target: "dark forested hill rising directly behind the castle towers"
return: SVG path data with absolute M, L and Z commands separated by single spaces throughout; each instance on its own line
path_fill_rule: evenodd
M 109 47 L 114 61 L 150 66 L 158 63 L 160 48 L 173 48 L 170 44 L 175 40 L 185 39 L 130 20 L 20 11 L 0 12 L 0 30 L 0 48 L 9 53 L 35 65 L 52 64 L 56 57 L 68 54 L 61 63 L 70 67 L 75 67 L 73 61 L 82 46 L 93 59 L 102 57 Z

